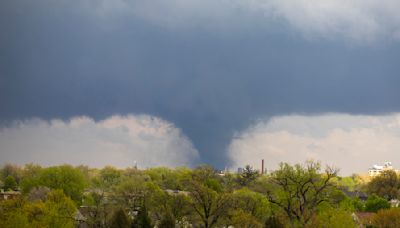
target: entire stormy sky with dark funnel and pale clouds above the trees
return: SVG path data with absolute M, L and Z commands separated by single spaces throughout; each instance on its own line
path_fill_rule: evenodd
M 0 163 L 400 168 L 399 9 L 3 0 Z

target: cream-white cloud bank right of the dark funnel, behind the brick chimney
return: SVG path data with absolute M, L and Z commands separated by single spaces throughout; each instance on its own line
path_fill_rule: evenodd
M 366 173 L 376 163 L 400 168 L 400 114 L 353 116 L 281 116 L 259 121 L 232 140 L 234 167 L 250 164 L 268 169 L 280 162 L 314 159 L 340 168 L 342 175 Z

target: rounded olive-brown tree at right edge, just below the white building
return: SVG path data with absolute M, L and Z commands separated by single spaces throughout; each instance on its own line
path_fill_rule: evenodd
M 400 181 L 393 170 L 385 170 L 374 177 L 367 185 L 368 193 L 376 194 L 386 200 L 396 199 L 399 195 Z

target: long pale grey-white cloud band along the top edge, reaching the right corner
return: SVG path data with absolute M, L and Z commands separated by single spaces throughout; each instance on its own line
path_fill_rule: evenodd
M 166 27 L 285 21 L 310 39 L 373 43 L 400 38 L 397 0 L 102 0 L 96 4 L 96 11 L 107 18 L 123 12 Z

